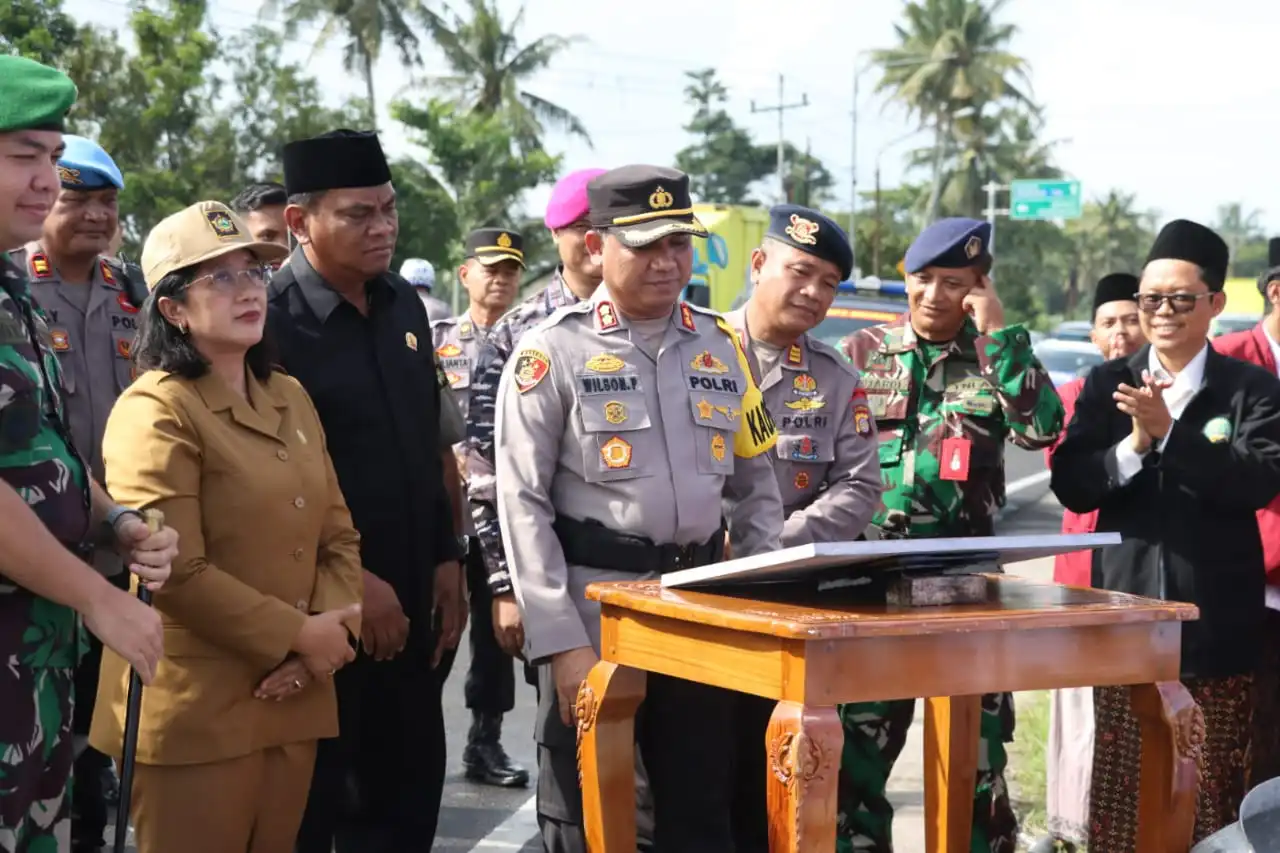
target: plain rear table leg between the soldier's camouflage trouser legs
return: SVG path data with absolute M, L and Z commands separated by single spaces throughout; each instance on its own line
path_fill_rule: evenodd
M 924 699 L 924 849 L 969 853 L 980 695 Z

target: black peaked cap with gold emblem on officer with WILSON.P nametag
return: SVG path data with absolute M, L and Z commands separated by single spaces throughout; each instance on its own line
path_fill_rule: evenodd
M 628 165 L 605 172 L 586 184 L 593 228 L 608 228 L 632 248 L 667 234 L 705 237 L 694 215 L 689 175 L 677 169 Z

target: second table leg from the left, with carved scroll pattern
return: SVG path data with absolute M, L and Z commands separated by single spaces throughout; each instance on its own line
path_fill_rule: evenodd
M 771 853 L 836 849 L 836 788 L 845 745 L 836 708 L 778 702 L 764 740 Z

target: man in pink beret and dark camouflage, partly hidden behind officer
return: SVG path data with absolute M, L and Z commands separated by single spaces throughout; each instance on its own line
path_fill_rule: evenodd
M 604 169 L 579 169 L 556 182 L 543 222 L 552 232 L 561 263 L 547 287 L 530 295 L 498 320 L 480 347 L 472 368 L 467 420 L 467 497 L 489 575 L 493 625 L 500 646 L 511 654 L 520 654 L 525 639 L 520 608 L 511 589 L 507 556 L 502 548 L 502 529 L 494 498 L 493 415 L 498 380 L 516 342 L 525 332 L 562 305 L 573 305 L 590 297 L 600 286 L 600 264 L 586 251 L 586 232 L 590 229 L 586 184 L 602 174 Z

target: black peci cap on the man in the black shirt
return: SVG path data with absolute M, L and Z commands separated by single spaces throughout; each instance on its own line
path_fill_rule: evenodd
M 370 131 L 330 131 L 284 146 L 284 187 L 288 193 L 355 190 L 390 183 L 392 170 Z

